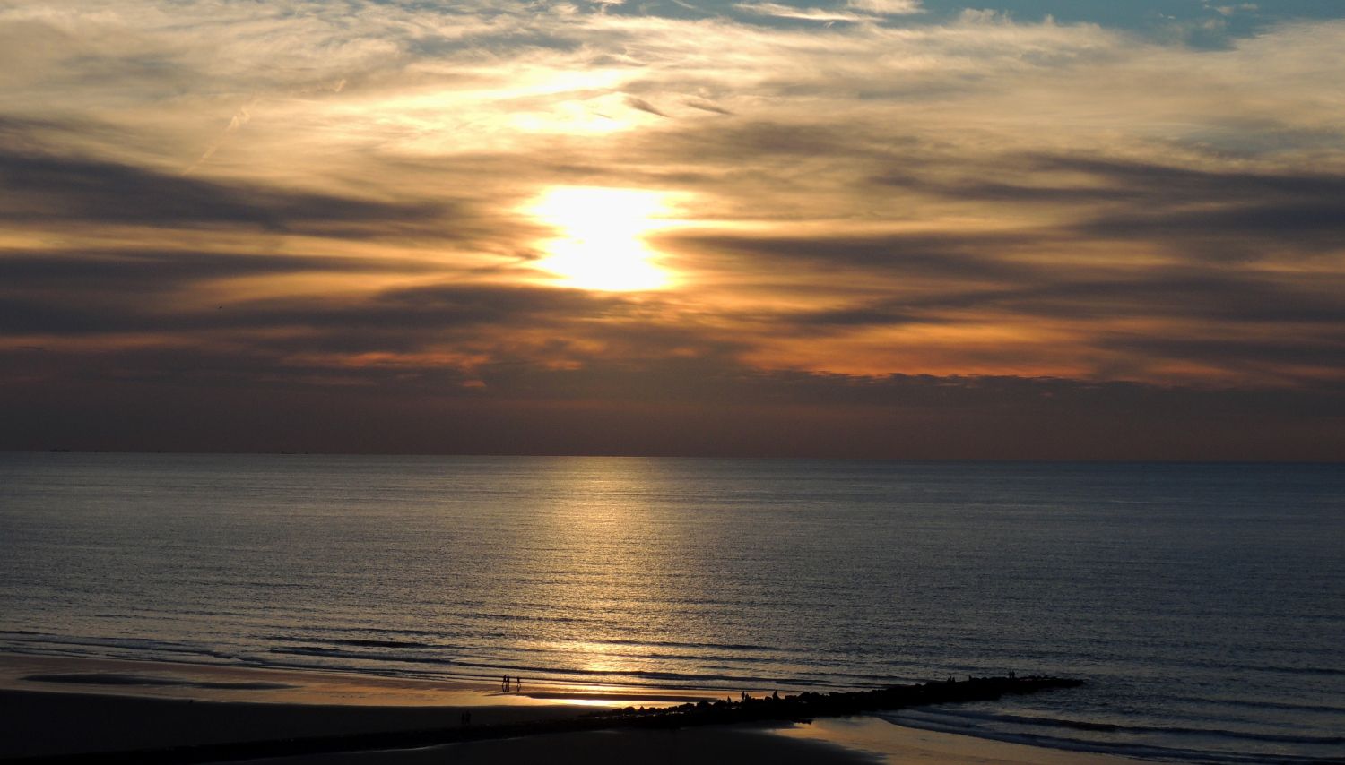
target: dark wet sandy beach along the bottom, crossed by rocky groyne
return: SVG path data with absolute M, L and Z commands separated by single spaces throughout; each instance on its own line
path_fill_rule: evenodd
M 0 758 L 110 753 L 464 725 L 545 725 L 594 707 L 681 703 L 685 691 L 397 680 L 300 670 L 0 656 Z M 725 692 L 706 692 L 722 696 Z M 276 764 L 902 762 L 1120 765 L 1134 760 L 928 733 L 877 718 L 810 725 L 535 734 Z

